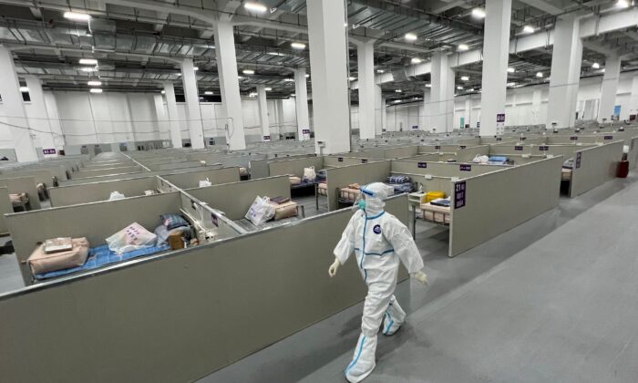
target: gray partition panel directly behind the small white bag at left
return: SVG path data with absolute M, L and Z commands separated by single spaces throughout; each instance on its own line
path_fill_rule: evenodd
M 107 201 L 112 191 L 126 197 L 144 195 L 144 191 L 157 189 L 157 178 L 145 177 L 130 180 L 103 181 L 81 185 L 61 186 L 48 190 L 51 206 L 68 206 L 77 203 Z

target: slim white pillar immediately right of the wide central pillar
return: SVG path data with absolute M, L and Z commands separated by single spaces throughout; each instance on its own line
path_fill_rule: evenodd
M 375 122 L 375 40 L 356 45 L 359 83 L 359 138 L 374 139 Z

